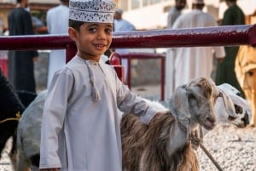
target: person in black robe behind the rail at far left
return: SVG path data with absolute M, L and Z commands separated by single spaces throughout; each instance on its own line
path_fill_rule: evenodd
M 33 35 L 32 16 L 27 11 L 28 0 L 17 0 L 16 8 L 8 15 L 9 36 Z M 15 90 L 36 93 L 34 62 L 38 51 L 9 51 L 9 81 Z

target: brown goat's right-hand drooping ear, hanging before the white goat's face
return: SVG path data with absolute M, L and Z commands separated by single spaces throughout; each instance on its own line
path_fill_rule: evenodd
M 238 117 L 238 115 L 236 114 L 234 103 L 230 99 L 230 97 L 227 94 L 225 94 L 222 89 L 218 88 L 218 91 L 219 91 L 219 97 L 222 98 L 222 100 L 224 102 L 224 107 L 225 107 L 227 114 L 230 117 Z

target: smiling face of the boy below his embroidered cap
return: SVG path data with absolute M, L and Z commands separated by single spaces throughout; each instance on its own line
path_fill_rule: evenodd
M 69 28 L 69 36 L 78 47 L 78 54 L 84 60 L 100 60 L 112 42 L 113 24 L 84 22 L 79 31 Z

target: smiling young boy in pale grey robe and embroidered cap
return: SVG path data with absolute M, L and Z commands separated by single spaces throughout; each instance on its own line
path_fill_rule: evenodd
M 56 71 L 44 104 L 41 171 L 121 171 L 119 111 L 148 124 L 156 111 L 100 61 L 112 42 L 114 3 L 70 0 L 78 54 Z

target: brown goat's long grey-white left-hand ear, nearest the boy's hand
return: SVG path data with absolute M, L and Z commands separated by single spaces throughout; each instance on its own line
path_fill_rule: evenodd
M 179 86 L 175 89 L 170 100 L 170 111 L 172 115 L 183 120 L 190 118 L 189 100 L 186 93 L 186 86 Z

